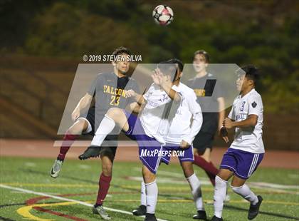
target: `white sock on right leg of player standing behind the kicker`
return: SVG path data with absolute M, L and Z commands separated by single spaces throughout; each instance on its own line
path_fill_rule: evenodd
M 199 178 L 197 178 L 197 176 L 194 173 L 191 176 L 189 176 L 189 178 L 186 178 L 186 180 L 188 181 L 191 187 L 191 192 L 195 202 L 196 210 L 204 210 L 204 202 L 202 201 Z

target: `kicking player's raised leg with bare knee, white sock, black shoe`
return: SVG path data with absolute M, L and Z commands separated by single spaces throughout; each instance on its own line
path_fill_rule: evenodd
M 88 158 L 98 157 L 98 149 L 100 148 L 100 145 L 102 145 L 106 136 L 115 128 L 115 125 L 118 125 L 124 131 L 129 129 L 127 117 L 124 111 L 120 108 L 110 108 L 107 111 L 98 127 L 98 130 L 95 132 L 95 136 L 91 141 L 90 147 L 88 147 L 83 154 L 79 155 L 79 159 L 86 160 Z

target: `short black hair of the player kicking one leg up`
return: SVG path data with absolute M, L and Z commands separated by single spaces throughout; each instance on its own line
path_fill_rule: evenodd
M 184 64 L 181 60 L 172 58 L 167 61 L 161 61 L 160 63 L 158 63 L 158 68 L 162 71 L 162 73 L 174 76 L 173 79 L 175 79 L 178 74 L 177 69 L 179 68 L 179 71 L 182 72 Z

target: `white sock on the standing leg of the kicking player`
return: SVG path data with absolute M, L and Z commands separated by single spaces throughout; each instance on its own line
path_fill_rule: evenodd
M 145 183 L 145 192 L 147 195 L 147 213 L 154 214 L 158 199 L 158 186 L 156 180 L 152 183 Z

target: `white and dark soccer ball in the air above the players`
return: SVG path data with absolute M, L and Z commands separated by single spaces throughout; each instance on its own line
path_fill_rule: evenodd
M 154 21 L 162 26 L 169 25 L 174 20 L 174 12 L 167 5 L 159 5 L 152 11 Z

